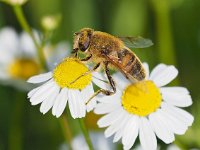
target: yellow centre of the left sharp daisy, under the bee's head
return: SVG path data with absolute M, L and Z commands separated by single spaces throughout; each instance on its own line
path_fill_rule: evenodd
M 89 69 L 76 58 L 67 58 L 54 69 L 54 80 L 62 88 L 83 89 L 90 84 L 92 74 Z

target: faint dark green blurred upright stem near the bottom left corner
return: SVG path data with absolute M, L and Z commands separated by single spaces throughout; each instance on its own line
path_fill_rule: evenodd
M 9 130 L 9 150 L 21 150 L 23 145 L 22 124 L 24 115 L 25 94 L 16 92 L 16 99 L 11 114 Z

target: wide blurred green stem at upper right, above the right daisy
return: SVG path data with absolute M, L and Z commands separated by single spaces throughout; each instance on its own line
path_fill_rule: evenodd
M 168 0 L 151 0 L 151 2 L 155 11 L 160 61 L 176 65 L 176 56 L 170 22 L 170 2 Z

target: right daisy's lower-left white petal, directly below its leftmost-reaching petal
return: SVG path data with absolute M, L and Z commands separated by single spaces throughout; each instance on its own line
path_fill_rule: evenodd
M 111 112 L 110 114 L 107 114 L 103 116 L 101 119 L 98 120 L 97 124 L 99 127 L 107 127 L 111 125 L 115 120 L 117 120 L 118 115 L 123 111 L 122 108 L 115 110 Z

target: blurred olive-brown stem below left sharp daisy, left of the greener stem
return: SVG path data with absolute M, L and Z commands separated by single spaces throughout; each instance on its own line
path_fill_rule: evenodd
M 72 144 L 72 133 L 71 133 L 70 126 L 69 126 L 68 122 L 69 121 L 67 120 L 67 116 L 63 114 L 60 117 L 60 125 L 62 127 L 66 142 L 69 145 L 69 149 L 72 150 L 72 145 L 71 145 Z

